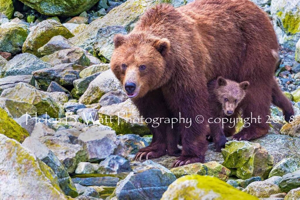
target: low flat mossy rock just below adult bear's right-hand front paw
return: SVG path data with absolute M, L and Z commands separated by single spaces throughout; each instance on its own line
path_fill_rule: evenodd
M 185 175 L 198 174 L 202 176 L 204 175 L 213 176 L 219 178 L 222 181 L 227 181 L 230 174 L 229 169 L 220 165 L 217 162 L 208 162 L 204 164 L 192 163 L 192 164 L 172 168 L 170 171 L 176 176 L 176 178 Z

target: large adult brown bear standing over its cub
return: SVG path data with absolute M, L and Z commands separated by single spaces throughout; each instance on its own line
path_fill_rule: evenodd
M 173 166 L 204 162 L 210 117 L 207 83 L 218 76 L 249 81 L 242 114 L 261 118 L 236 139 L 256 139 L 268 132 L 272 91 L 280 96 L 276 103 L 283 102 L 292 115 L 273 79 L 276 35 L 267 14 L 251 1 L 196 0 L 179 8 L 160 4 L 147 10 L 130 34 L 116 35 L 114 43 L 111 68 L 143 117 L 178 118 L 180 113 L 192 120 L 190 127 L 182 121 L 173 128 L 149 123 L 153 141 L 136 158 L 178 156 L 180 136 L 182 154 Z

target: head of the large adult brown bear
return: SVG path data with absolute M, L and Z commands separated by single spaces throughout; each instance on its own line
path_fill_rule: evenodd
M 143 97 L 168 81 L 165 58 L 170 51 L 166 38 L 143 33 L 117 34 L 111 69 L 130 98 Z

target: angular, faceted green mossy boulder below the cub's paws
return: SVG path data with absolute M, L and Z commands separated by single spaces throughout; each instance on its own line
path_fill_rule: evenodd
M 241 179 L 253 176 L 268 178 L 273 166 L 273 156 L 259 143 L 247 141 L 229 141 L 222 149 L 223 166 L 230 169 L 231 174 Z

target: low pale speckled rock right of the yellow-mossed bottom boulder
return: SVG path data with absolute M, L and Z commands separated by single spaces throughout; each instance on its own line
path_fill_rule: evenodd
M 275 184 L 266 183 L 264 181 L 255 181 L 250 183 L 242 191 L 258 198 L 264 198 L 269 197 L 272 194 L 280 193 L 280 188 Z

